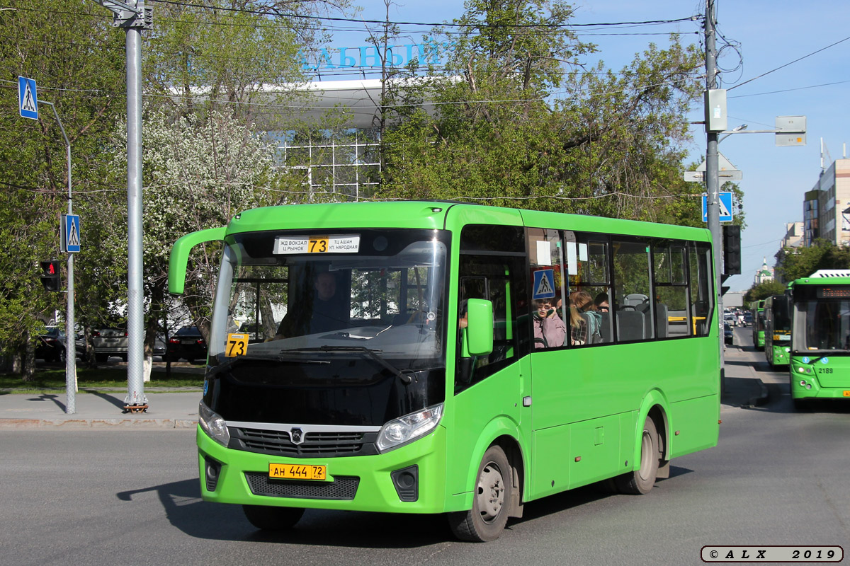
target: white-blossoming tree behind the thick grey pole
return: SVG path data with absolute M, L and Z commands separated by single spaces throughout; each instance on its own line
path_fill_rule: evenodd
M 111 147 L 113 177 L 126 176 L 126 128 L 116 128 Z M 228 109 L 206 120 L 174 116 L 165 108 L 145 114 L 144 293 L 149 300 L 145 357 L 150 361 L 159 322 L 173 305 L 167 295 L 168 260 L 177 238 L 226 225 L 241 210 L 280 203 L 297 181 L 275 169 L 275 148 Z M 289 184 L 287 184 L 287 182 Z M 127 248 L 127 232 L 111 234 L 109 246 Z M 209 338 L 209 305 L 218 272 L 218 246 L 195 249 L 182 305 Z

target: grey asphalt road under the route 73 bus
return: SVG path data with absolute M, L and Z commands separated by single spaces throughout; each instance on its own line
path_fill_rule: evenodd
M 263 535 L 201 502 L 194 433 L 9 429 L 0 436 L 0 563 L 702 564 L 706 545 L 850 551 L 850 409 L 796 413 L 787 378 L 737 328 L 728 363 L 755 363 L 764 406 L 724 407 L 717 448 L 672 462 L 647 496 L 592 488 L 525 506 L 498 541 L 454 541 L 439 517 L 308 511 Z M 744 344 L 744 346 L 740 346 Z M 848 558 L 845 558 L 847 562 Z

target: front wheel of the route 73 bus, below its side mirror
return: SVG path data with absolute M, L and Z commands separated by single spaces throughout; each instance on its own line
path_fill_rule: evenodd
M 473 508 L 449 513 L 449 524 L 462 541 L 495 541 L 507 523 L 511 502 L 511 464 L 505 451 L 490 446 L 484 452 L 475 485 Z

